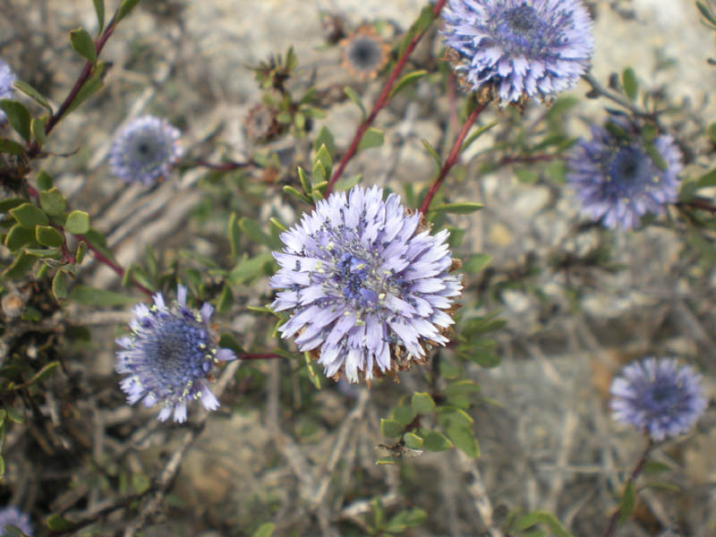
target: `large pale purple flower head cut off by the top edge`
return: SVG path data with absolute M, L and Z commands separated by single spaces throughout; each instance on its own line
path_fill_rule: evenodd
M 461 80 L 490 85 L 503 102 L 545 98 L 589 66 L 592 20 L 580 0 L 449 0 L 445 43 Z

